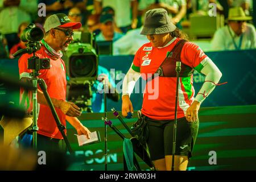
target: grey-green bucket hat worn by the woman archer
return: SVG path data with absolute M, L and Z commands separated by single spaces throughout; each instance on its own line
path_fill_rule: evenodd
M 141 31 L 142 35 L 165 34 L 172 32 L 176 26 L 171 22 L 170 17 L 165 9 L 148 10 L 144 19 L 144 26 Z

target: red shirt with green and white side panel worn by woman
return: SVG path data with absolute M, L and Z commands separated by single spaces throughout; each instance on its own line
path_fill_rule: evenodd
M 140 72 L 143 80 L 154 74 L 166 58 L 167 53 L 174 48 L 179 38 L 171 40 L 171 44 L 158 48 L 151 43 L 144 44 L 135 54 L 132 68 Z M 195 44 L 186 42 L 181 51 L 181 62 L 200 72 L 207 55 Z M 175 70 L 175 67 L 173 68 Z M 148 75 L 149 74 L 149 75 Z M 176 77 L 155 77 L 147 81 L 143 93 L 142 113 L 156 120 L 174 119 Z M 177 118 L 185 116 L 185 111 L 192 104 L 195 96 L 193 75 L 179 78 Z

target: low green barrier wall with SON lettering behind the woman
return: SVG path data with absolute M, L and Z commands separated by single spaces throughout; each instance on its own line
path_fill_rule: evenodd
M 82 114 L 80 121 L 90 131 L 100 131 L 101 140 L 104 141 L 105 129 L 104 122 L 101 121 L 102 116 L 103 113 Z M 256 105 L 203 107 L 200 109 L 199 117 L 199 134 L 188 170 L 256 170 Z M 122 123 L 112 113 L 107 113 L 107 118 L 127 138 L 130 137 Z M 125 119 L 128 126 L 135 121 L 136 118 Z M 75 132 L 68 125 L 68 139 L 77 156 L 76 163 L 70 169 L 104 170 L 105 143 L 79 147 Z M 108 127 L 108 150 L 108 170 L 123 170 L 122 140 L 110 127 Z M 210 151 L 216 152 L 217 164 L 209 164 L 209 159 L 212 157 Z M 141 159 L 138 157 L 137 159 L 143 170 L 149 169 Z

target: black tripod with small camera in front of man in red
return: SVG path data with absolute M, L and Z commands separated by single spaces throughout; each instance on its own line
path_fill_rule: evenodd
M 57 124 L 58 129 L 60 130 L 61 135 L 64 138 L 64 142 L 68 148 L 68 151 L 70 154 L 73 153 L 72 148 L 68 142 L 68 138 L 64 133 L 65 126 L 61 125 L 60 119 L 56 113 L 56 110 L 52 104 L 51 98 L 49 97 L 49 94 L 47 93 L 47 85 L 46 82 L 42 78 L 39 78 L 39 71 L 40 69 L 49 69 L 50 68 L 50 62 L 49 59 L 39 59 L 39 57 L 35 56 L 35 52 L 40 49 L 40 43 L 39 42 L 28 42 L 27 48 L 20 49 L 19 51 L 14 53 L 15 56 L 20 56 L 23 53 L 33 53 L 33 56 L 28 59 L 28 69 L 32 69 L 33 72 L 30 73 L 30 78 L 32 82 L 32 118 L 33 123 L 30 131 L 32 131 L 33 134 L 33 140 L 32 140 L 32 146 L 36 150 L 38 147 L 37 145 L 37 131 L 38 131 L 38 101 L 37 101 L 37 90 L 38 90 L 38 84 L 40 88 L 43 91 L 44 97 L 46 98 L 47 104 L 51 109 L 51 112 L 53 114 L 53 117 L 55 119 L 55 122 Z M 22 98 L 22 101 L 24 98 Z

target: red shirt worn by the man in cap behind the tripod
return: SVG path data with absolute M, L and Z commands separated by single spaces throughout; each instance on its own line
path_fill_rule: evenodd
M 32 55 L 24 54 L 19 59 L 19 74 L 31 73 L 31 69 L 27 69 L 27 60 Z M 53 60 L 46 53 L 46 48 L 42 48 L 36 52 L 36 56 L 39 58 L 49 58 L 51 63 L 50 69 L 41 69 L 39 71 L 39 78 L 43 78 L 47 85 L 47 92 L 49 97 L 56 98 L 57 100 L 65 101 L 66 97 L 66 74 L 65 74 L 65 64 L 62 59 Z M 40 89 L 40 88 L 39 88 Z M 20 94 L 22 94 L 21 90 Z M 31 95 L 31 94 L 30 94 Z M 57 115 L 59 116 L 62 125 L 66 125 L 65 114 L 56 108 Z M 30 107 L 28 110 L 32 110 L 32 104 L 30 100 Z M 45 135 L 51 138 L 63 139 L 59 129 L 57 128 L 55 119 L 51 113 L 49 106 L 40 104 L 39 116 L 38 116 L 38 134 Z M 66 131 L 65 131 L 66 132 Z

